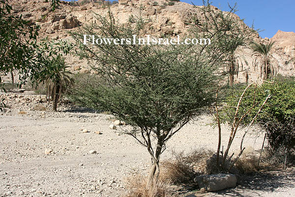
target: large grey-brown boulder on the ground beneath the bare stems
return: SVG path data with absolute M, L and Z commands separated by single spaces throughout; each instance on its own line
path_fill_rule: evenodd
M 194 181 L 198 183 L 201 190 L 206 192 L 219 191 L 226 188 L 236 187 L 236 176 L 234 174 L 211 174 L 197 176 Z

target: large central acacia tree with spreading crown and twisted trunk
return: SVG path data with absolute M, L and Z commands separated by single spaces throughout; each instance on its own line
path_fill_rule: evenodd
M 148 149 L 152 158 L 148 189 L 157 182 L 159 160 L 167 141 L 214 101 L 220 67 L 229 53 L 229 32 L 234 32 L 231 27 L 237 27 L 230 15 L 212 13 L 209 4 L 202 11 L 211 14 L 218 25 L 208 28 L 204 23 L 193 27 L 188 36 L 208 36 L 211 44 L 83 44 L 84 35 L 121 39 L 144 32 L 144 20 L 139 19 L 135 25 L 115 24 L 110 11 L 107 18 L 95 16 L 99 23 L 72 33 L 79 46 L 78 54 L 88 60 L 104 81 L 92 87 L 91 94 L 84 95 L 95 97 L 88 99 L 96 102 L 92 106 L 108 110 L 133 126 L 131 131 L 124 132 Z

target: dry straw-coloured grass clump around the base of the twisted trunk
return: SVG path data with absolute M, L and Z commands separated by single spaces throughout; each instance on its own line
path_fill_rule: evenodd
M 152 190 L 146 188 L 147 177 L 136 174 L 126 179 L 128 193 L 125 197 L 172 197 L 171 184 L 160 178 Z

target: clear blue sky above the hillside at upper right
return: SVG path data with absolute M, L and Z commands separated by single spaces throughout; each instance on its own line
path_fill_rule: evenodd
M 70 1 L 70 0 L 67 0 Z M 111 0 L 112 1 L 112 0 Z M 156 1 L 156 0 L 155 0 Z M 202 5 L 203 0 L 180 0 L 195 5 Z M 245 23 L 264 30 L 261 37 L 271 38 L 278 30 L 295 32 L 295 0 L 210 0 L 223 11 L 228 11 L 228 2 L 237 3 L 236 14 L 245 19 Z

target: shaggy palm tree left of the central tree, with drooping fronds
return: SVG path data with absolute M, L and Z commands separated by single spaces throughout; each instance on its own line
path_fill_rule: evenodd
M 64 59 L 58 56 L 51 61 L 52 72 L 47 75 L 43 82 L 46 84 L 46 100 L 53 102 L 53 110 L 57 111 L 59 101 L 62 99 L 67 88 L 73 85 L 74 79 L 71 72 L 65 70 Z

